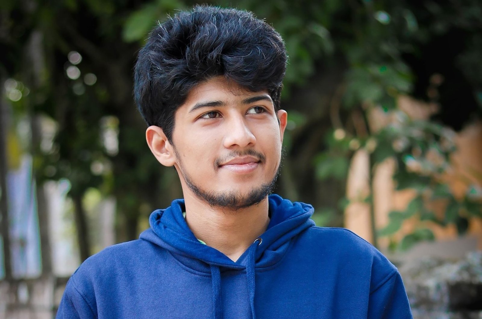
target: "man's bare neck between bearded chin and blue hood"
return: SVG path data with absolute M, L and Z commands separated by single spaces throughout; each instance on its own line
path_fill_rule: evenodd
M 196 238 L 233 261 L 268 227 L 268 197 L 246 209 L 211 207 L 193 194 L 185 193 L 184 200 L 186 222 Z

